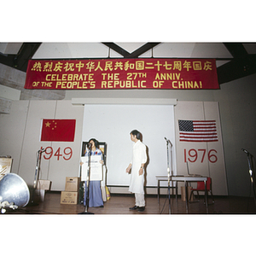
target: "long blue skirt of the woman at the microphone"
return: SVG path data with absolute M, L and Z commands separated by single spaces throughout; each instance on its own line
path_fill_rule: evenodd
M 101 181 L 90 181 L 89 185 L 89 207 L 102 207 L 103 200 L 102 200 L 102 189 L 101 189 Z M 84 189 L 84 207 L 86 206 L 86 191 L 87 191 L 87 184 L 85 183 Z

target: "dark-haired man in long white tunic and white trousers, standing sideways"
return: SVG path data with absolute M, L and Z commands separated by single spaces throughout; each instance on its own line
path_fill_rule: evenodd
M 131 183 L 129 191 L 135 194 L 135 206 L 130 210 L 143 212 L 145 210 L 144 198 L 144 166 L 147 162 L 146 146 L 141 142 L 141 133 L 133 130 L 130 133 L 131 141 L 134 142 L 133 154 L 130 165 L 126 172 L 131 173 Z

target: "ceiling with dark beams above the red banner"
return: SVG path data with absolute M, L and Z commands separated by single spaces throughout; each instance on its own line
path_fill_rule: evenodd
M 64 44 L 64 43 L 60 43 Z M 211 46 L 211 58 L 215 58 L 218 63 L 217 67 L 218 83 L 224 84 L 235 79 L 241 79 L 247 75 L 256 73 L 256 44 L 254 43 L 195 43 L 200 45 L 198 54 L 185 55 L 192 43 L 69 43 L 73 44 L 74 49 L 90 47 L 90 57 L 84 57 L 77 50 L 75 57 L 66 55 L 58 49 L 56 43 L 0 43 L 0 63 L 18 69 L 26 73 L 28 60 L 37 59 L 39 53 L 45 59 L 93 59 L 93 58 L 138 58 L 138 57 L 155 57 L 154 49 L 166 47 L 166 52 L 170 51 L 170 58 L 204 58 L 209 57 L 204 53 L 205 45 Z M 195 45 L 193 44 L 193 45 Z M 181 48 L 181 46 L 183 48 Z M 177 47 L 178 46 L 178 47 Z M 47 55 L 49 47 L 55 52 L 55 55 Z M 81 48 L 83 47 L 83 48 Z M 108 55 L 98 55 L 99 47 L 104 47 Z M 48 48 L 48 49 L 46 49 Z M 101 48 L 102 49 L 102 48 Z M 195 46 L 193 46 L 195 52 Z M 224 53 L 220 53 L 220 49 Z M 65 50 L 63 50 L 65 51 Z M 208 50 L 209 52 L 209 50 Z M 113 54 L 114 53 L 114 54 Z M 201 53 L 201 54 L 199 54 Z M 64 56 L 64 57 L 63 57 Z M 160 57 L 158 55 L 157 57 Z M 163 56 L 164 57 L 164 56 Z M 169 56 L 168 56 L 169 58 Z

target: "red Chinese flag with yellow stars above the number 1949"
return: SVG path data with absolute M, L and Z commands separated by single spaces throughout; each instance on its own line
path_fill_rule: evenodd
M 43 119 L 41 142 L 73 142 L 76 119 Z

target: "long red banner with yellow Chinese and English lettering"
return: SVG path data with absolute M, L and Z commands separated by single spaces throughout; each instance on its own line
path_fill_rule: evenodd
M 214 59 L 31 60 L 26 89 L 219 89 Z

